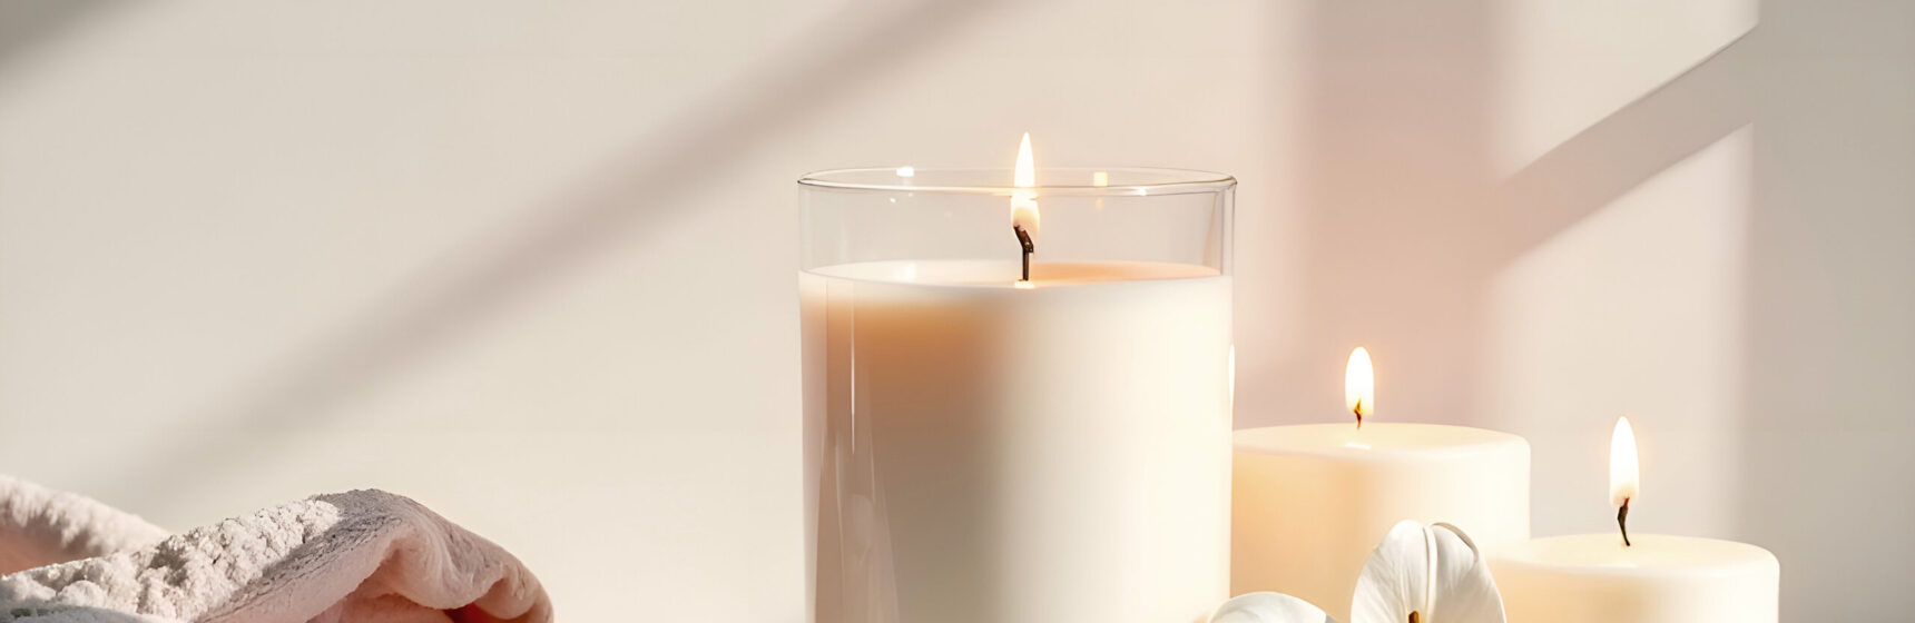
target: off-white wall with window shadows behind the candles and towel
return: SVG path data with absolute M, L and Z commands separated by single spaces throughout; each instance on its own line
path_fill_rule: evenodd
M 1670 4 L 1676 4 L 1674 8 Z M 1536 531 L 1915 610 L 1905 2 L 0 4 L 0 472 L 412 495 L 569 619 L 797 621 L 810 168 L 1233 172 L 1239 426 L 1524 434 Z

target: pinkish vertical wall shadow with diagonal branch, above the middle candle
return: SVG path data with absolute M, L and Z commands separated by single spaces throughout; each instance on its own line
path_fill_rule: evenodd
M 1501 178 L 1490 153 L 1494 2 L 1312 10 L 1302 231 L 1337 235 L 1302 241 L 1298 327 L 1312 334 L 1279 378 L 1335 386 L 1340 378 L 1302 367 L 1381 342 L 1394 367 L 1425 376 L 1392 380 L 1400 403 L 1473 413 L 1488 281 L 1754 118 L 1746 82 L 1758 59 L 1745 32 Z

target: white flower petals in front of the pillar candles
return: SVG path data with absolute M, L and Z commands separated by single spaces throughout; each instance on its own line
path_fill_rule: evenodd
M 1450 524 L 1400 522 L 1369 552 L 1350 600 L 1352 623 L 1505 623 L 1503 596 L 1476 545 Z M 1249 592 L 1218 606 L 1210 623 L 1335 623 L 1321 608 L 1281 592 Z

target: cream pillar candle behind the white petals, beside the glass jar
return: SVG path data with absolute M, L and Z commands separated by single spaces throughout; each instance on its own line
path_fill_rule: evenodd
M 1530 537 L 1530 445 L 1482 428 L 1239 430 L 1231 489 L 1231 594 L 1287 592 L 1339 621 L 1396 522 L 1453 524 L 1478 547 Z

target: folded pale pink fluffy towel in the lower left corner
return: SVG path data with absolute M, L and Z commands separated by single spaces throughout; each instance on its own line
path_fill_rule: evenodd
M 54 562 L 59 556 L 90 556 Z M 6 566 L 46 564 L 11 571 Z M 316 495 L 165 537 L 0 478 L 0 623 L 552 621 L 517 558 L 385 491 Z

